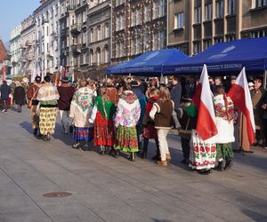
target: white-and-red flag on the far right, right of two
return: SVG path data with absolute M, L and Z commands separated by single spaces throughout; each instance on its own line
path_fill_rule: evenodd
M 236 83 L 231 86 L 228 92 L 234 104 L 239 107 L 240 111 L 247 118 L 247 136 L 250 144 L 255 142 L 255 119 L 253 113 L 253 105 L 250 96 L 250 91 L 247 84 L 247 76 L 245 67 L 240 72 Z

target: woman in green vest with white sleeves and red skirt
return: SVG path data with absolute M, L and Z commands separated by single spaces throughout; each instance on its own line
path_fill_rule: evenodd
M 106 95 L 107 89 L 101 87 L 100 95 L 94 100 L 93 112 L 89 120 L 94 123 L 93 144 L 95 147 L 101 147 L 101 155 L 109 151 L 109 147 L 114 145 L 113 115 L 116 107 Z

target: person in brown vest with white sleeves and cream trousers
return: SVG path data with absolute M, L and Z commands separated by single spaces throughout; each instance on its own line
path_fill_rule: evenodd
M 171 161 L 171 155 L 166 137 L 171 130 L 172 115 L 174 111 L 174 101 L 171 100 L 170 91 L 161 86 L 158 100 L 154 103 L 150 118 L 155 120 L 155 128 L 158 133 L 158 144 L 160 151 L 160 161 L 158 165 L 166 166 Z

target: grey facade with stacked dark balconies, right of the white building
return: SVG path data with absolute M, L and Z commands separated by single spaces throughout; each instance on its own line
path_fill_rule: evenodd
M 88 68 L 87 0 L 61 0 L 61 66 L 80 73 Z

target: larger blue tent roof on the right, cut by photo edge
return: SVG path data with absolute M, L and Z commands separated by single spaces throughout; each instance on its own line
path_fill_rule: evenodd
M 204 64 L 209 74 L 240 72 L 242 67 L 252 72 L 267 70 L 267 37 L 214 44 L 182 62 L 169 62 L 163 74 L 200 74 Z

